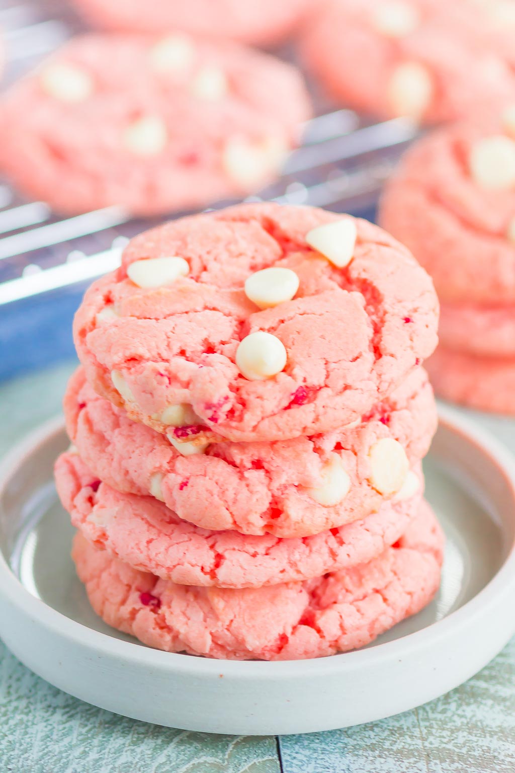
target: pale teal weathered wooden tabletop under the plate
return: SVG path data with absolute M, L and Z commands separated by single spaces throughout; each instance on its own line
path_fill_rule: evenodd
M 0 455 L 59 413 L 72 369 L 70 363 L 0 385 Z M 507 610 L 513 614 L 515 601 Z M 43 682 L 0 642 L 0 773 L 243 771 L 513 773 L 515 639 L 468 683 L 417 710 L 280 739 L 188 733 L 118 717 Z

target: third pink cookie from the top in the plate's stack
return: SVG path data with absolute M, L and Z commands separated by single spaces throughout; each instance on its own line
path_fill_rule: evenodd
M 367 519 L 281 540 L 200 529 L 157 499 L 110 489 L 76 454 L 57 460 L 56 485 L 73 525 L 111 557 L 174 583 L 215 587 L 307 580 L 371 560 L 408 528 L 422 496 L 418 472 L 418 486 L 415 477 L 411 490 L 401 492 L 405 499 L 385 502 Z

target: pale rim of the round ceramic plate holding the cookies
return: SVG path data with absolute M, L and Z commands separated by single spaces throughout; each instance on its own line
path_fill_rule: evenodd
M 509 448 L 473 419 L 464 416 L 459 409 L 439 404 L 439 423 L 452 431 L 458 431 L 466 441 L 473 442 L 499 465 L 503 477 L 513 494 L 515 502 L 515 455 Z M 22 463 L 26 455 L 64 429 L 63 416 L 50 418 L 32 430 L 15 444 L 11 451 L 0 460 L 0 493 Z M 341 652 L 324 658 L 285 661 L 235 661 L 205 657 L 191 657 L 180 652 L 164 652 L 141 646 L 136 642 L 125 642 L 106 633 L 95 631 L 87 625 L 68 618 L 62 612 L 49 607 L 42 599 L 36 598 L 15 576 L 5 557 L 0 553 L 0 596 L 8 604 L 15 605 L 46 630 L 66 638 L 72 645 L 92 649 L 97 655 L 117 657 L 120 661 L 138 667 L 161 669 L 168 675 L 181 673 L 201 678 L 216 678 L 223 669 L 225 676 L 238 679 L 295 679 L 296 677 L 324 676 L 327 672 L 355 672 L 363 667 L 380 666 L 391 661 L 392 656 L 402 659 L 413 656 L 418 649 L 426 649 L 442 637 L 451 635 L 462 625 L 467 625 L 491 604 L 500 604 L 504 597 L 513 598 L 515 592 L 515 540 L 503 560 L 500 569 L 473 598 L 431 625 L 390 642 L 383 642 L 369 649 Z M 515 626 L 515 623 L 514 623 Z

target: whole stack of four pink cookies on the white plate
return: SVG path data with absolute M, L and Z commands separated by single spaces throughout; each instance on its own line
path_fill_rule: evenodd
M 56 463 L 97 613 L 170 652 L 295 659 L 428 604 L 437 322 L 408 250 L 351 216 L 242 205 L 132 240 L 76 315 Z

